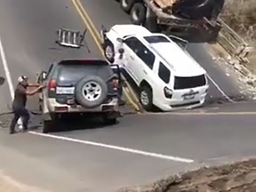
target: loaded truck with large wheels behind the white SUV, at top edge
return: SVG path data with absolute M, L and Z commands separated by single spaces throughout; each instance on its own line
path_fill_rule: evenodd
M 214 40 L 221 28 L 217 18 L 224 0 L 119 0 L 131 21 L 150 31 L 180 37 L 206 32 Z

